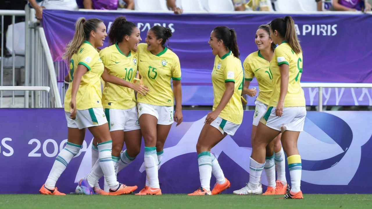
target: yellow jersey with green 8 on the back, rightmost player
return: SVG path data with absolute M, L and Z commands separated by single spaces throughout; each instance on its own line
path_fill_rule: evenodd
M 302 53 L 296 54 L 291 45 L 283 41 L 274 51 L 273 60 L 270 62 L 270 70 L 273 77 L 273 94 L 269 106 L 276 107 L 280 96 L 280 71 L 279 65 L 289 65 L 288 92 L 284 99 L 284 107 L 304 107 L 304 90 L 300 85 L 302 74 Z

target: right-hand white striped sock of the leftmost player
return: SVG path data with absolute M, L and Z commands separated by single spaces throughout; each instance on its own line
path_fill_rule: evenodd
M 112 163 L 111 149 L 112 141 L 106 141 L 97 145 L 99 151 L 99 164 L 111 190 L 119 188 L 119 182 L 116 180 L 115 168 Z

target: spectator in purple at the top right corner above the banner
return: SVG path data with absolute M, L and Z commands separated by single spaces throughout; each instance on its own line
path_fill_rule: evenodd
M 333 0 L 333 8 L 337 11 L 363 10 L 363 12 L 370 12 L 371 4 L 368 3 L 368 0 Z

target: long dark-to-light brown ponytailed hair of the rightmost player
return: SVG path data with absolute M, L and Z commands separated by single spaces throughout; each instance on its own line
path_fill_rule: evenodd
M 270 28 L 272 31 L 278 31 L 279 35 L 291 45 L 292 50 L 299 54 L 302 52 L 301 45 L 297 38 L 295 22 L 291 16 L 285 16 L 284 18 L 276 18 L 271 21 Z

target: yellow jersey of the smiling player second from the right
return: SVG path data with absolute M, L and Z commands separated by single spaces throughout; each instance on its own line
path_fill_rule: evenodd
M 243 62 L 244 77 L 246 81 L 252 81 L 256 77 L 260 89 L 257 100 L 269 105 L 271 93 L 273 91 L 273 78 L 270 72 L 270 61 L 265 60 L 259 51 L 248 55 Z

